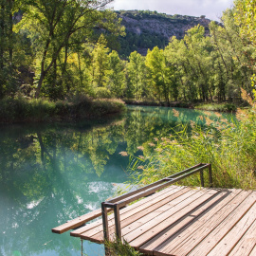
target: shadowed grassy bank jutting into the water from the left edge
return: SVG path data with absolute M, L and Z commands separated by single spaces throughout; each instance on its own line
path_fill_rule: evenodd
M 85 96 L 69 101 L 17 97 L 0 101 L 0 123 L 74 121 L 98 119 L 125 111 L 119 100 L 92 100 Z

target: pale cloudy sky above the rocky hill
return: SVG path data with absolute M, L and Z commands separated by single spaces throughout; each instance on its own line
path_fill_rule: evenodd
M 114 0 L 109 7 L 119 9 L 156 10 L 166 14 L 181 14 L 219 21 L 222 12 L 231 8 L 233 0 Z

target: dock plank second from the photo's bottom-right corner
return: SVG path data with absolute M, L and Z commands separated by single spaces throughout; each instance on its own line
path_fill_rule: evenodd
M 256 245 L 256 220 L 250 226 L 250 228 L 247 229 L 247 232 L 239 241 L 239 243 L 230 251 L 229 256 L 249 255 L 252 249 L 255 247 L 255 245 Z

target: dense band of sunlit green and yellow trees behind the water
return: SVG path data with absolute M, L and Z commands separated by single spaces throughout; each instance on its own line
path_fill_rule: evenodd
M 197 25 L 164 48 L 153 47 L 158 43 L 152 40 L 147 45 L 145 37 L 140 43 L 150 48 L 146 56 L 133 51 L 127 60 L 114 50 L 113 36 L 123 36 L 124 27 L 117 13 L 103 9 L 110 1 L 36 0 L 21 6 L 1 0 L 0 97 L 236 101 L 241 87 L 252 93 L 251 1 L 236 1 L 223 13 L 222 25 L 210 23 L 208 35 Z M 141 12 L 137 19 L 145 15 L 153 13 Z

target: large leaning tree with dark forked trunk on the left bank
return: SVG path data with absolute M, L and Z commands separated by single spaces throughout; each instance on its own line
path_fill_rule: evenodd
M 119 26 L 120 21 L 112 11 L 98 10 L 111 1 L 36 0 L 28 2 L 26 14 L 19 23 L 19 27 L 29 30 L 39 60 L 36 98 L 39 97 L 43 82 L 50 71 L 52 71 L 53 82 L 56 79 L 57 61 L 63 49 L 65 56 L 61 62 L 66 63 L 68 46 L 72 38 L 82 34 L 83 40 L 77 44 L 83 44 L 88 41 L 96 27 L 108 29 L 117 34 L 123 30 Z

